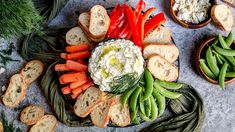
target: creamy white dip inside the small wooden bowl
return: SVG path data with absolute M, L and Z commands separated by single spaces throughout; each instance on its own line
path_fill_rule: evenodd
M 175 0 L 173 10 L 185 23 L 199 24 L 208 18 L 210 0 Z

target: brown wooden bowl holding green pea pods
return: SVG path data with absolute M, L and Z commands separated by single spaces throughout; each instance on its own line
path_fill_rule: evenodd
M 213 84 L 219 84 L 217 80 L 213 80 L 211 79 L 210 77 L 208 77 L 205 72 L 201 69 L 200 67 L 200 63 L 199 63 L 199 60 L 202 56 L 205 55 L 206 53 L 206 50 L 208 49 L 208 46 L 212 44 L 212 42 L 217 38 L 216 37 L 210 37 L 208 39 L 206 39 L 201 45 L 200 47 L 198 48 L 197 50 L 197 54 L 196 54 L 196 68 L 197 68 L 197 71 L 199 72 L 199 74 L 201 76 L 203 76 L 208 82 L 211 82 Z M 234 42 L 233 42 L 234 43 Z M 225 84 L 229 84 L 229 83 L 232 83 L 235 81 L 235 78 L 232 78 L 230 80 L 227 80 L 225 81 Z

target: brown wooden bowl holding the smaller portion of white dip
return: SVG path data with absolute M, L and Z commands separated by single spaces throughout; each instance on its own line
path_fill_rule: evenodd
M 209 24 L 212 19 L 211 19 L 211 8 L 213 5 L 217 4 L 217 1 L 216 0 L 210 0 L 210 3 L 211 3 L 211 7 L 210 9 L 208 10 L 208 18 L 199 23 L 199 24 L 193 24 L 193 23 L 185 23 L 184 21 L 180 20 L 178 17 L 177 17 L 177 11 L 174 11 L 173 10 L 173 6 L 175 4 L 175 0 L 170 0 L 170 14 L 172 16 L 172 18 L 178 22 L 181 26 L 185 27 L 185 28 L 190 28 L 190 29 L 197 29 L 197 28 L 201 28 L 201 27 L 204 27 L 206 26 L 207 24 Z

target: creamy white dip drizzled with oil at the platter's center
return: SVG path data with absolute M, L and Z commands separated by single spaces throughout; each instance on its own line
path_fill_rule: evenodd
M 139 48 L 125 39 L 101 42 L 92 52 L 88 70 L 102 91 L 110 91 L 114 77 L 144 71 L 144 59 Z

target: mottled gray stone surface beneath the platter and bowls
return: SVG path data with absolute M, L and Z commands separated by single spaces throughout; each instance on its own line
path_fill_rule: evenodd
M 157 7 L 156 12 L 163 11 L 166 13 L 167 22 L 166 27 L 170 28 L 173 33 L 173 38 L 176 45 L 180 49 L 180 77 L 179 81 L 187 84 L 191 84 L 196 88 L 202 95 L 205 102 L 206 118 L 202 128 L 202 132 L 234 132 L 235 131 L 235 83 L 226 85 L 226 90 L 221 91 L 219 86 L 208 83 L 202 77 L 200 77 L 194 70 L 194 53 L 195 49 L 198 47 L 200 42 L 208 37 L 214 36 L 218 33 L 226 34 L 218 30 L 213 24 L 197 29 L 190 30 L 185 29 L 175 23 L 169 15 L 169 0 L 145 0 L 148 7 Z M 50 26 L 56 27 L 71 27 L 76 24 L 76 15 L 74 11 L 87 11 L 92 5 L 102 4 L 106 7 L 113 7 L 116 3 L 124 2 L 116 0 L 70 0 L 66 7 L 58 14 L 58 16 L 51 22 Z M 130 5 L 135 5 L 135 1 L 127 2 Z M 233 9 L 234 12 L 234 9 Z M 19 47 L 17 40 L 12 40 L 16 47 Z M 0 49 L 5 48 L 7 41 L 0 39 Z M 19 48 L 17 48 L 19 50 Z M 17 73 L 19 69 L 25 64 L 24 60 L 20 57 L 17 50 L 12 54 L 14 59 L 20 60 L 20 62 L 11 62 L 7 65 L 7 70 L 5 73 L 0 74 L 0 88 L 2 86 L 7 86 L 8 79 L 14 73 Z M 29 104 L 39 104 L 45 107 L 47 113 L 51 113 L 50 107 L 47 104 L 40 88 L 37 83 L 30 85 L 27 96 L 21 103 L 20 107 L 16 109 L 6 108 L 0 103 L 0 110 L 4 110 L 7 118 L 13 122 L 14 126 L 20 127 L 23 131 L 27 131 L 28 126 L 22 124 L 19 121 L 19 111 L 29 105 Z M 139 131 L 141 128 L 149 125 L 148 123 L 143 123 L 138 126 L 129 128 L 106 128 L 100 129 L 97 127 L 90 128 L 70 128 L 62 123 L 58 123 L 56 131 L 58 132 L 77 132 L 77 131 Z

